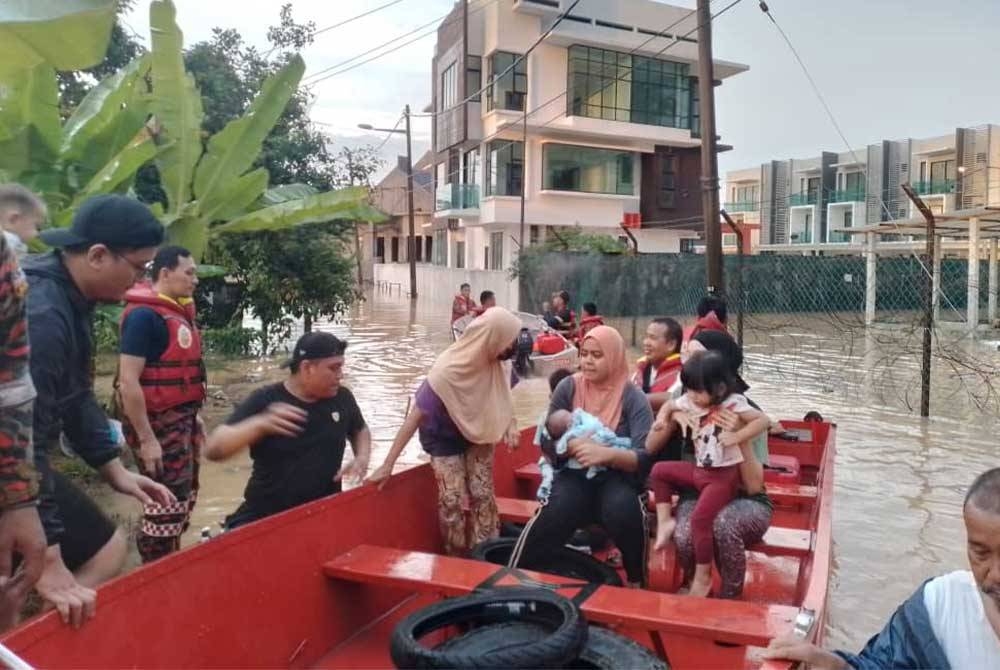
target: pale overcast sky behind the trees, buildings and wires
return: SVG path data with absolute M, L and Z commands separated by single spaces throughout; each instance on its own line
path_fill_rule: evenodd
M 298 22 L 314 21 L 324 28 L 389 0 L 174 0 L 186 44 L 208 39 L 218 26 L 236 28 L 248 42 L 265 47 L 267 27 L 277 23 L 286 1 L 292 2 Z M 670 4 L 693 9 L 695 2 Z M 715 0 L 713 11 L 727 4 Z M 1000 123 L 995 35 L 1000 0 L 769 0 L 768 5 L 851 146 Z M 141 36 L 148 35 L 148 7 L 147 0 L 140 0 L 126 17 Z M 308 81 L 313 73 L 431 24 L 401 42 L 429 33 L 427 37 L 315 83 L 311 117 L 330 134 L 335 148 L 379 145 L 386 135 L 359 130 L 357 124 L 392 127 L 404 105 L 419 112 L 430 103 L 432 29 L 451 7 L 452 0 L 402 0 L 318 35 L 303 51 Z M 713 29 L 715 58 L 750 67 L 716 92 L 718 133 L 733 146 L 720 155 L 721 174 L 772 159 L 847 150 L 756 0 L 740 2 Z M 427 118 L 414 118 L 413 137 L 416 160 L 430 144 Z M 401 135 L 382 147 L 390 164 L 405 150 Z

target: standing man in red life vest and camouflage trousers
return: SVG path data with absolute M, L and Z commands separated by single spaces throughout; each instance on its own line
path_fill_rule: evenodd
M 167 246 L 153 259 L 152 285 L 126 295 L 118 403 L 125 441 L 140 471 L 177 497 L 143 506 L 137 544 L 143 562 L 180 548 L 198 494 L 205 400 L 201 336 L 195 324 L 197 271 L 191 253 Z

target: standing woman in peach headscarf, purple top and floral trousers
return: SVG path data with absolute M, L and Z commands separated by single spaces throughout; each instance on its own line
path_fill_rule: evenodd
M 379 488 L 413 433 L 431 456 L 445 551 L 461 554 L 499 530 L 493 447 L 517 441 L 510 366 L 521 320 L 502 307 L 476 318 L 435 361 L 385 462 L 368 478 Z M 462 498 L 469 500 L 466 523 Z

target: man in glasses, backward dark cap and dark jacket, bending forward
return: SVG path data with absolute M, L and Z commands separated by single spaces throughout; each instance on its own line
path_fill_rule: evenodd
M 48 450 L 64 432 L 116 491 L 144 504 L 173 501 L 164 486 L 122 465 L 107 415 L 94 397 L 92 371 L 94 306 L 120 301 L 144 274 L 163 241 L 163 226 L 142 203 L 106 195 L 85 202 L 69 228 L 45 230 L 41 238 L 57 250 L 24 264 L 31 377 L 38 393 L 39 513 L 49 544 L 36 588 L 64 621 L 79 626 L 93 616 L 93 589 L 120 572 L 127 545 L 114 523 L 52 470 Z

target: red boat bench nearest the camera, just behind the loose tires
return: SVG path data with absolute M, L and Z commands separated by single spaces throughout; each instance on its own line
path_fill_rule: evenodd
M 470 593 L 503 570 L 492 563 L 365 544 L 323 565 L 323 572 L 333 579 L 445 596 Z M 520 572 L 536 582 L 566 584 L 565 577 Z M 519 583 L 523 582 L 517 576 L 507 574 L 495 585 Z M 572 584 L 558 590 L 568 597 L 579 592 Z M 797 608 L 788 605 L 713 600 L 707 607 L 705 603 L 701 598 L 600 586 L 580 609 L 595 623 L 760 647 L 789 634 L 798 613 Z

